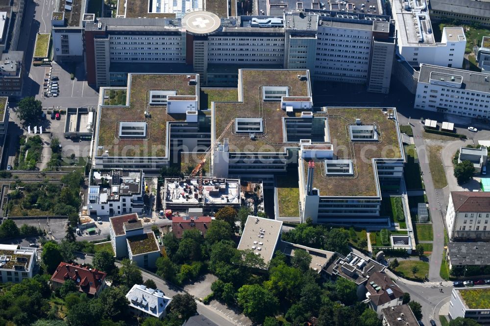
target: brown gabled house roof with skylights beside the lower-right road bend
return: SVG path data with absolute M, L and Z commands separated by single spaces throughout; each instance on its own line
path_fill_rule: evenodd
M 403 297 L 403 291 L 385 273 L 373 273 L 366 283 L 366 289 L 370 293 L 369 299 L 377 306 Z

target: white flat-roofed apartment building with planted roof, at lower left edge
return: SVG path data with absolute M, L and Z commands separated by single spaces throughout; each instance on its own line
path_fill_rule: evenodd
M 32 278 L 37 248 L 0 244 L 0 283 L 20 283 Z

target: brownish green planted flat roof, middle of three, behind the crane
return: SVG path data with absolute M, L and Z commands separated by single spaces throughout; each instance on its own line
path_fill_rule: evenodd
M 298 75 L 307 75 L 299 79 Z M 241 82 L 240 82 L 241 80 Z M 288 96 L 310 96 L 310 80 L 307 70 L 239 70 L 238 102 L 215 102 L 213 120 L 215 132 L 212 140 L 220 137 L 229 139 L 230 152 L 283 152 L 286 147 L 296 147 L 295 144 L 285 144 L 282 130 L 283 117 L 288 116 L 281 109 L 280 101 L 264 101 L 263 86 L 286 86 Z M 239 86 L 240 87 L 240 86 Z M 294 113 L 290 116 L 300 116 Z M 247 135 L 234 132 L 234 127 L 226 130 L 230 121 L 237 117 L 262 117 L 264 132 L 257 134 L 251 141 Z M 281 128 L 281 129 L 279 129 Z M 213 138 L 214 136 L 214 138 Z

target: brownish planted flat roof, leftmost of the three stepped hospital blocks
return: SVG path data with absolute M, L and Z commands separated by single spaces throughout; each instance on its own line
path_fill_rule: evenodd
M 190 76 L 190 78 L 188 78 Z M 184 121 L 185 114 L 168 114 L 166 105 L 149 105 L 149 91 L 176 91 L 177 95 L 197 95 L 198 85 L 189 85 L 196 74 L 129 74 L 129 106 L 102 106 L 98 125 L 98 155 L 124 157 L 164 157 L 167 122 Z M 149 110 L 149 117 L 145 117 Z M 120 122 L 146 122 L 146 136 L 119 138 Z

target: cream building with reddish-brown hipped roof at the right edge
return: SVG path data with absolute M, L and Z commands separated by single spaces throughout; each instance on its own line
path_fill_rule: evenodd
M 490 239 L 490 192 L 451 191 L 446 212 L 447 235 L 454 240 Z

